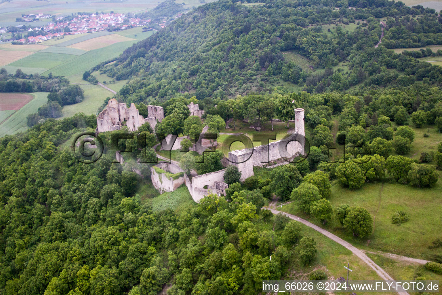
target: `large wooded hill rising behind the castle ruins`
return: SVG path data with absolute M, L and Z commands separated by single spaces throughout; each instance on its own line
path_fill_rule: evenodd
M 375 48 L 384 19 L 385 36 Z M 282 81 L 307 92 L 407 86 L 425 77 L 435 83 L 440 67 L 386 48 L 442 44 L 440 20 L 434 9 L 394 1 L 218 1 L 176 19 L 100 70 L 116 80 L 131 79 L 119 92 L 126 102 L 149 96 L 164 101 L 186 91 L 198 100 L 225 99 L 272 90 Z M 284 58 L 287 50 L 309 58 L 315 71 Z M 337 65 L 347 61 L 343 72 Z

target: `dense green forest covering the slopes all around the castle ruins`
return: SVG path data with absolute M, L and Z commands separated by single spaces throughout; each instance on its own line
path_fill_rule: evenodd
M 379 18 L 387 19 L 385 36 L 374 48 Z M 118 142 L 118 150 L 133 149 L 124 165 L 112 163 L 110 149 L 111 134 L 124 128 L 100 133 L 103 156 L 80 163 L 71 141 L 79 131 L 95 132 L 95 115 L 44 115 L 55 104 L 75 102 L 82 95 L 76 85 L 64 77 L 1 70 L 0 85 L 25 83 L 50 94 L 48 105 L 28 118 L 29 130 L 0 138 L 0 294 L 257 294 L 262 280 L 289 279 L 315 260 L 316 242 L 297 222 L 260 210 L 272 193 L 319 222 L 336 218 L 355 237 L 370 235 L 373 220 L 364 208 L 331 207 L 330 181 L 349 189 L 374 181 L 436 184 L 441 143 L 419 160 L 405 156 L 416 136 L 409 124 L 442 130 L 442 68 L 416 59 L 440 53 L 390 48 L 442 44 L 441 23 L 432 9 L 394 1 L 219 1 L 134 44 L 113 65 L 100 65 L 116 80 L 130 79 L 119 101 L 136 103 L 145 117 L 149 99 L 164 107 L 157 134 L 200 134 L 202 122 L 187 108 L 191 102 L 205 110 L 211 132 L 230 120 L 232 128 L 235 120 L 255 128 L 273 119 L 288 124 L 293 106 L 305 109 L 305 161 L 263 169 L 243 183 L 229 166 L 225 197 L 208 195 L 182 211 L 154 211 L 138 194 L 140 184 L 149 185 L 152 164 L 137 164 L 141 179 L 131 163 L 154 155 L 159 143 L 148 123 L 135 134 L 146 140 L 143 149 L 137 139 Z M 336 33 L 323 32 L 321 24 L 335 25 Z M 308 57 L 316 71 L 286 60 L 286 50 Z M 335 68 L 343 61 L 348 73 Z M 291 92 L 280 81 L 303 91 Z M 332 147 L 344 153 L 336 156 Z M 199 173 L 222 167 L 220 153 L 202 164 L 195 157 L 185 153 L 180 165 Z M 340 162 L 328 163 L 331 157 Z M 356 217 L 368 226 L 359 226 Z M 310 270 L 306 276 L 325 279 Z

